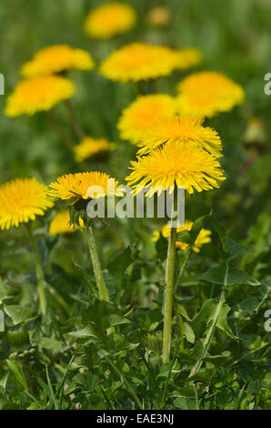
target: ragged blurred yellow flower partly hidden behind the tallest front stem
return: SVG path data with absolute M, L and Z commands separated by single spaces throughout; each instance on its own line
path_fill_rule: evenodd
M 193 221 L 189 221 L 186 220 L 185 223 L 183 224 L 183 226 L 179 227 L 176 229 L 177 233 L 182 232 L 183 230 L 191 230 L 193 226 Z M 161 229 L 162 232 L 162 236 L 166 239 L 168 239 L 169 237 L 169 233 L 170 233 L 170 228 L 167 224 L 165 224 L 164 226 L 162 226 Z M 202 248 L 202 246 L 204 244 L 207 244 L 209 242 L 211 242 L 211 230 L 209 229 L 201 229 L 199 234 L 196 237 L 196 241 L 194 243 L 194 246 L 192 247 L 192 250 L 195 252 L 199 252 L 200 249 Z M 160 232 L 159 230 L 154 230 L 153 232 L 153 242 L 156 242 L 160 237 Z M 188 244 L 186 244 L 186 242 L 181 242 L 179 240 L 176 241 L 176 248 L 180 249 L 180 250 L 186 250 L 188 247 Z

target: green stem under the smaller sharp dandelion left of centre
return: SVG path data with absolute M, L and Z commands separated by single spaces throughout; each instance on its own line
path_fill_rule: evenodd
M 95 246 L 93 229 L 91 225 L 87 225 L 85 229 L 86 229 L 86 236 L 87 236 L 90 257 L 92 260 L 93 269 L 95 273 L 95 280 L 99 291 L 99 298 L 101 301 L 109 301 L 108 291 L 105 286 L 105 280 L 103 277 L 100 260 L 99 260 L 98 253 Z

